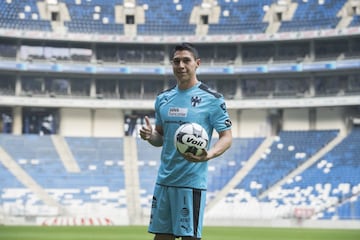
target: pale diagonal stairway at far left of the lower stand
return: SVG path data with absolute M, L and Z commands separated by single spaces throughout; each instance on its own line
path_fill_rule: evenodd
M 58 209 L 59 214 L 66 210 L 56 202 L 36 181 L 25 172 L 12 157 L 0 146 L 0 162 L 28 189 L 34 192 L 40 200 L 50 207 Z

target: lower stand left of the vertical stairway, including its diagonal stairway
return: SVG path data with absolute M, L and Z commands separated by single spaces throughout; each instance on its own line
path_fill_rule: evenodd
M 122 139 L 65 141 L 72 147 L 76 167 L 62 162 L 50 136 L 1 135 L 2 149 L 16 164 L 13 168 L 5 164 L 7 170 L 1 165 L 1 176 L 6 178 L 1 182 L 1 205 L 5 211 L 46 216 L 59 214 L 58 210 L 54 212 L 59 205 L 69 209 L 96 204 L 126 208 Z M 43 189 L 40 193 L 36 190 L 39 187 Z M 58 205 L 47 202 L 46 195 Z

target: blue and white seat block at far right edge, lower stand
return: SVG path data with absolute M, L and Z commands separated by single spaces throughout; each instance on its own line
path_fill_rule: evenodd
M 360 128 L 351 133 L 318 162 L 301 173 L 300 181 L 282 186 L 284 191 L 310 191 L 298 205 L 316 207 L 319 219 L 352 219 L 359 209 L 360 199 Z M 358 189 L 358 190 L 356 190 Z M 293 201 L 294 196 L 282 195 Z M 272 199 L 269 199 L 272 200 Z M 357 211 L 358 213 L 359 211 Z

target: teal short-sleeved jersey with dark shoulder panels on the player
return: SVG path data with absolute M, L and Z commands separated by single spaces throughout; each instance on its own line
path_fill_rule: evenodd
M 223 96 L 201 82 L 187 90 L 175 86 L 157 96 L 155 118 L 164 131 L 157 183 L 206 189 L 208 163 L 184 159 L 176 150 L 174 135 L 181 124 L 198 123 L 209 135 L 209 148 L 214 129 L 222 132 L 231 128 Z

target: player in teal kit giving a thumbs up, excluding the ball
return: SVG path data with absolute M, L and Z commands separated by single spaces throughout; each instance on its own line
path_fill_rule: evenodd
M 207 161 L 231 146 L 231 121 L 223 96 L 198 80 L 200 58 L 192 44 L 175 46 L 171 63 L 177 84 L 157 96 L 155 128 L 146 116 L 140 129 L 142 139 L 162 146 L 148 231 L 155 234 L 155 240 L 201 239 Z M 182 155 L 175 148 L 175 131 L 188 122 L 203 126 L 210 140 L 214 129 L 219 135 L 218 141 L 200 156 Z

